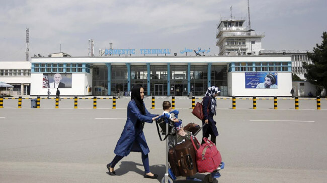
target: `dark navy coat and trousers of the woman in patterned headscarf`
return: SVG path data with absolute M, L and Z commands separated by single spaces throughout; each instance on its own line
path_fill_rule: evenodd
M 208 138 L 209 135 L 211 135 L 210 140 L 213 143 L 216 143 L 216 136 L 218 136 L 218 130 L 216 127 L 217 122 L 213 120 L 214 113 L 210 110 L 210 106 L 208 106 L 209 103 L 211 103 L 210 101 L 211 101 L 211 97 L 206 96 L 203 98 L 202 112 L 203 112 L 204 119 L 202 120 L 202 125 L 205 123 L 206 119 L 208 119 L 208 124 L 202 128 L 202 136 Z M 209 114 L 207 111 L 208 108 L 209 108 Z M 205 143 L 204 140 L 202 140 L 201 144 L 203 143 Z

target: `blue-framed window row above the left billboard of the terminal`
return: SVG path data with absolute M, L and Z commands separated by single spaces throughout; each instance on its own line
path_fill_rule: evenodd
M 60 64 L 43 64 L 33 63 L 34 72 L 87 72 L 90 73 L 90 64 L 81 63 L 60 63 Z

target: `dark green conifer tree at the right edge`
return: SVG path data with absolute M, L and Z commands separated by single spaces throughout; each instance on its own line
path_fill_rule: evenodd
M 304 77 L 312 84 L 327 88 L 327 33 L 322 33 L 321 45 L 316 44 L 313 53 L 307 52 L 312 64 L 302 62 L 303 68 L 307 70 Z

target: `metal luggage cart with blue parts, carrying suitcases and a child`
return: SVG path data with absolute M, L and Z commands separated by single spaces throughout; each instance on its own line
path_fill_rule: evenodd
M 179 114 L 178 110 L 171 111 L 170 113 L 173 113 L 175 115 L 175 117 L 178 118 L 178 114 Z M 166 173 L 165 173 L 165 176 L 162 177 L 161 183 L 173 183 L 174 180 L 177 179 L 177 177 L 174 175 L 173 170 L 171 168 L 169 168 L 168 153 L 169 153 L 169 145 L 170 144 L 169 144 L 169 138 L 167 138 L 167 137 L 169 137 L 170 135 L 176 135 L 175 128 L 174 128 L 174 122 L 169 119 L 169 115 L 162 114 L 155 120 L 155 123 L 156 123 L 156 127 L 157 127 L 157 131 L 158 131 L 160 140 L 161 141 L 166 140 Z M 203 126 L 201 126 L 201 128 L 194 134 L 194 136 L 199 131 L 202 130 Z M 160 130 L 160 128 L 161 128 L 161 130 Z M 162 138 L 161 135 L 165 135 L 165 137 Z M 177 141 L 175 141 L 175 143 L 177 143 Z M 219 173 L 219 170 L 223 169 L 224 166 L 225 166 L 225 163 L 221 162 L 217 169 L 215 169 L 213 172 L 205 175 L 203 182 L 217 183 L 218 180 L 216 178 L 219 178 L 221 176 Z M 201 181 L 200 179 L 195 178 L 195 177 L 186 177 L 186 180 Z

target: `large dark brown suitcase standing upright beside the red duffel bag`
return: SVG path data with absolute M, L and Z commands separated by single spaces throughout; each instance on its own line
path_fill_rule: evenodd
M 175 145 L 169 150 L 169 163 L 175 176 L 193 176 L 198 172 L 196 153 L 191 140 Z

